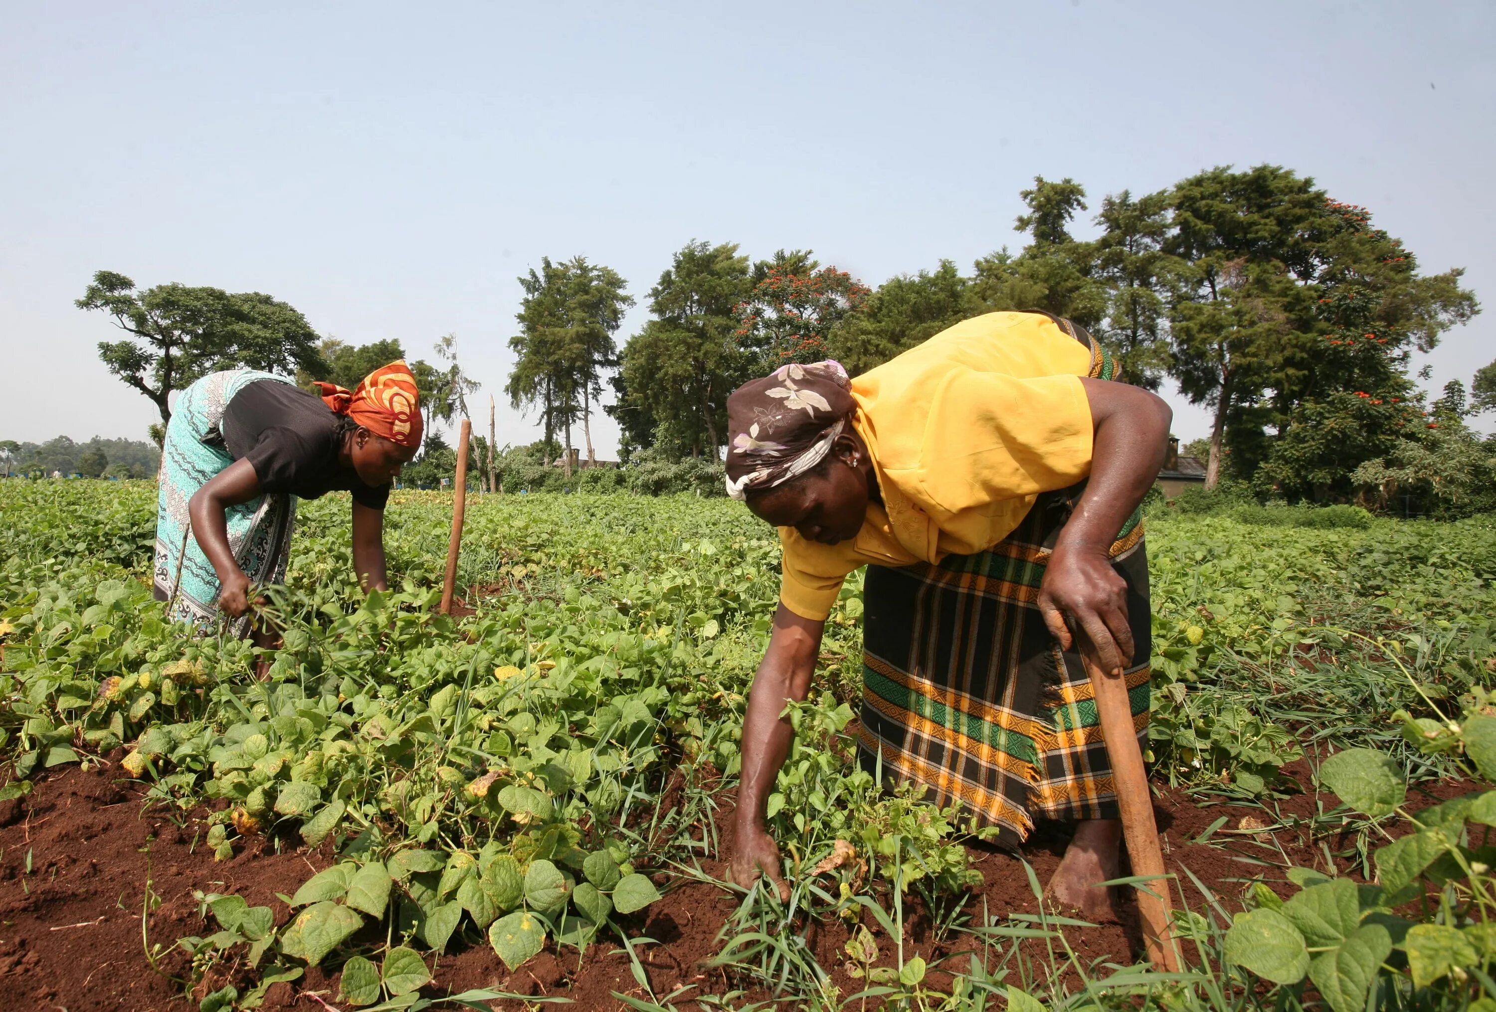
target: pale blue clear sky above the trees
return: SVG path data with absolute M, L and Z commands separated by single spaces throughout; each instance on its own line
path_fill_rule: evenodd
M 1285 164 L 1490 302 L 1493 37 L 1484 1 L 7 3 L 0 438 L 156 417 L 72 305 L 100 268 L 268 291 L 411 357 L 455 332 L 486 395 L 542 256 L 606 263 L 640 303 L 693 238 L 812 248 L 869 284 L 969 271 L 1019 245 L 1035 173 L 1095 211 Z M 1432 386 L 1493 336 L 1496 308 L 1447 336 Z M 500 441 L 537 438 L 500 401 Z

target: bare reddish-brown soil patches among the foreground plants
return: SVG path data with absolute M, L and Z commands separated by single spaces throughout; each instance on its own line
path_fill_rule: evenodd
M 1312 816 L 1322 801 L 1324 810 L 1334 806 L 1328 795 L 1312 794 L 1308 767 L 1296 764 L 1287 770 L 1309 792 L 1279 803 L 1284 815 L 1302 819 Z M 172 954 L 159 961 L 160 972 L 151 969 L 145 957 L 150 945 L 171 943 L 184 934 L 206 936 L 208 927 L 197 915 L 193 889 L 238 892 L 250 904 L 268 904 L 283 924 L 290 912 L 275 898 L 277 892 L 292 892 L 313 870 L 326 867 L 328 857 L 296 851 L 283 842 L 277 852 L 274 840 L 262 839 L 257 848 L 247 848 L 230 861 L 215 863 L 202 845 L 196 815 L 169 813 L 162 807 L 147 807 L 138 783 L 120 780 L 118 767 L 84 773 L 76 767 L 43 776 L 27 798 L 0 803 L 0 1006 L 6 1009 L 129 1009 L 130 1012 L 196 1009 L 181 997 L 180 985 L 168 975 L 184 976 L 186 957 Z M 1412 807 L 1469 791 L 1471 785 L 1439 783 L 1426 789 L 1426 797 Z M 1164 791 L 1156 804 L 1164 836 L 1165 860 L 1171 871 L 1188 882 L 1185 868 L 1207 885 L 1228 909 L 1243 883 L 1254 876 L 1281 877 L 1272 864 L 1287 857 L 1294 864 L 1324 867 L 1325 855 L 1306 834 L 1296 830 L 1252 833 L 1242 816 L 1266 821 L 1260 807 L 1237 804 L 1207 804 L 1198 807 L 1191 798 Z M 168 818 L 169 815 L 175 816 Z M 1227 822 L 1210 833 L 1222 816 Z M 730 819 L 723 818 L 727 830 Z M 1207 836 L 1209 834 L 1209 836 Z M 1201 837 L 1206 837 L 1201 840 Z M 723 840 L 724 846 L 730 840 Z M 1330 840 L 1330 849 L 1342 849 Z M 1046 880 L 1059 863 L 1065 836 L 1062 827 L 1044 825 L 1025 848 L 1025 858 L 1034 866 L 1040 880 Z M 978 852 L 977 867 L 986 886 L 977 903 L 969 906 L 974 919 L 981 916 L 983 903 L 992 915 L 1016 912 L 1037 913 L 1038 903 L 1019 861 L 1004 852 Z M 1266 864 L 1264 864 L 1266 863 Z M 703 863 L 709 874 L 723 874 L 718 861 Z M 1343 873 L 1354 868 L 1340 863 Z M 147 921 L 142 939 L 141 915 L 147 880 L 160 897 Z M 1200 907 L 1204 898 L 1186 885 L 1188 901 Z M 654 939 L 658 945 L 642 946 L 643 961 L 657 996 L 667 996 L 679 987 L 694 985 L 697 994 L 723 994 L 742 987 L 720 969 L 705 961 L 720 943 L 717 934 L 736 906 L 736 897 L 703 882 L 687 882 L 648 912 L 625 919 L 630 934 Z M 1095 928 L 1071 930 L 1070 942 L 1083 964 L 1129 963 L 1140 945 L 1134 907 L 1123 903 L 1122 921 Z M 869 925 L 871 927 L 871 925 Z M 926 960 L 969 949 L 969 936 L 953 934 L 950 945 L 938 945 L 931 918 L 911 904 L 905 955 L 919 952 Z M 889 940 L 875 933 L 892 957 Z M 842 994 L 863 987 L 844 969 L 842 946 L 848 928 L 839 922 L 812 925 L 808 940 L 823 967 L 833 969 L 833 982 Z M 453 940 L 456 946 L 456 940 Z M 577 967 L 577 955 L 567 949 L 557 957 L 546 951 L 515 973 L 486 945 L 474 945 L 455 955 L 441 957 L 435 967 L 435 984 L 425 990 L 429 997 L 468 988 L 494 988 L 528 996 L 567 996 L 580 1009 L 622 1009 L 612 991 L 645 997 L 616 942 L 604 940 L 591 948 Z M 953 961 L 965 969 L 965 958 Z M 223 982 L 223 975 L 209 981 Z M 242 975 L 239 982 L 247 979 Z M 939 984 L 941 975 L 932 975 Z M 277 984 L 266 996 L 265 1009 L 323 1009 L 307 993 L 334 1008 L 335 975 L 313 969 L 295 984 Z M 200 994 L 200 993 L 199 993 Z M 691 993 L 676 999 L 681 1008 L 691 1008 Z M 749 997 L 769 997 L 752 994 Z M 456 1006 L 447 1006 L 456 1008 Z M 497 1002 L 495 1009 L 519 1009 L 519 1002 Z

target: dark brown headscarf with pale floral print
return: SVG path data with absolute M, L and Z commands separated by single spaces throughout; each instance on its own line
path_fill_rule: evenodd
M 841 362 L 779 366 L 727 398 L 727 495 L 773 489 L 820 463 L 856 402 Z

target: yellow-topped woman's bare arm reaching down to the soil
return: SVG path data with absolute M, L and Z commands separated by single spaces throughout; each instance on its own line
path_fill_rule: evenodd
M 787 700 L 800 701 L 811 691 L 815 659 L 821 650 L 826 622 L 802 619 L 782 604 L 773 613 L 773 632 L 758 673 L 748 694 L 744 715 L 742 780 L 738 786 L 738 839 L 733 846 L 732 876 L 742 886 L 752 885 L 760 868 L 769 874 L 782 900 L 790 898 L 779 868 L 779 848 L 764 825 L 763 806 L 773 792 L 775 777 L 790 752 L 794 729 L 784 713 Z

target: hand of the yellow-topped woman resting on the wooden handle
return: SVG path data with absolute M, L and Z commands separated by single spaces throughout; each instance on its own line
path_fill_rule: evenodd
M 1126 583 L 1112 568 L 1103 549 L 1058 546 L 1038 589 L 1044 625 L 1070 650 L 1070 620 L 1085 635 L 1080 649 L 1109 674 L 1122 674 L 1132 662 L 1132 626 L 1126 614 Z

